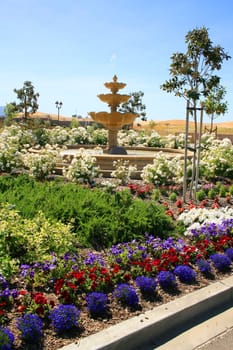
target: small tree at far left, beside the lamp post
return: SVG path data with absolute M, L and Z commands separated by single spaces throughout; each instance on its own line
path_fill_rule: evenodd
M 22 112 L 24 114 L 24 120 L 27 120 L 30 113 L 35 113 L 39 105 L 37 103 L 38 93 L 35 93 L 35 88 L 32 85 L 31 81 L 25 81 L 21 89 L 14 89 L 14 92 L 17 95 L 19 103 L 12 102 L 15 112 Z

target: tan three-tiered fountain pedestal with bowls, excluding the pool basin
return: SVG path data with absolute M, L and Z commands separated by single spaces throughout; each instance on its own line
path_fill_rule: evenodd
M 123 89 L 126 84 L 119 83 L 117 76 L 114 75 L 113 81 L 104 84 L 105 87 L 111 90 L 112 93 L 100 94 L 99 99 L 108 104 L 110 112 L 90 112 L 91 118 L 102 124 L 108 129 L 108 153 L 111 154 L 127 154 L 123 147 L 118 146 L 117 133 L 124 125 L 132 124 L 135 118 L 138 117 L 135 113 L 121 113 L 117 111 L 120 104 L 129 100 L 130 95 L 118 94 L 120 89 Z

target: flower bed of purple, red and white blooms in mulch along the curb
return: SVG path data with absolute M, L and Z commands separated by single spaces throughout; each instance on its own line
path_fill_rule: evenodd
M 233 198 L 230 186 L 224 185 L 225 192 L 221 186 L 205 186 L 199 200 L 184 203 L 179 188 L 155 192 L 133 182 L 127 186 L 132 196 L 145 201 L 153 197 L 175 223 L 183 215 L 180 234 L 164 238 L 146 234 L 98 251 L 77 247 L 70 254 L 24 261 L 13 278 L 1 275 L 0 320 L 14 336 L 14 348 L 59 349 L 78 343 L 81 337 L 231 275 Z M 14 209 L 4 208 L 4 215 L 17 223 L 19 217 L 9 214 Z M 42 226 L 51 230 L 46 220 Z M 8 240 L 11 234 L 8 230 Z M 10 344 L 10 337 L 2 334 L 6 331 L 0 333 L 0 341 L 7 338 Z

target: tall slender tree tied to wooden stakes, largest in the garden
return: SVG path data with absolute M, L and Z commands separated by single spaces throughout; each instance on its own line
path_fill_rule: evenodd
M 231 57 L 220 45 L 214 45 L 210 40 L 206 27 L 189 31 L 185 36 L 187 50 L 177 52 L 171 56 L 171 78 L 161 85 L 161 88 L 175 96 L 183 97 L 187 101 L 186 113 L 186 142 L 184 165 L 184 197 L 187 181 L 187 149 L 189 114 L 194 118 L 194 155 L 191 189 L 196 193 L 199 177 L 199 162 L 202 134 L 203 100 L 206 99 L 215 87 L 219 86 L 220 77 L 215 74 L 222 67 L 223 61 Z M 197 111 L 201 111 L 199 135 L 197 131 Z M 198 150 L 198 154 L 196 152 Z M 195 186 L 194 185 L 195 182 Z

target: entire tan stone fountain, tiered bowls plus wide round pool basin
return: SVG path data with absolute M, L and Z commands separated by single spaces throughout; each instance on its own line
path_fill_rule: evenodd
M 130 95 L 118 94 L 120 89 L 123 89 L 126 84 L 119 83 L 116 75 L 113 77 L 113 81 L 104 84 L 107 89 L 111 90 L 111 93 L 98 95 L 99 99 L 108 104 L 110 112 L 90 112 L 91 118 L 102 124 L 108 129 L 108 147 L 103 149 L 102 152 L 96 153 L 93 147 L 88 146 L 88 149 L 93 148 L 93 155 L 96 158 L 97 165 L 100 167 L 101 173 L 104 177 L 110 177 L 111 172 L 114 170 L 113 162 L 119 159 L 128 161 L 129 164 L 136 165 L 137 171 L 134 172 L 133 177 L 140 179 L 142 169 L 147 165 L 153 163 L 155 154 L 162 151 L 167 157 L 174 156 L 183 157 L 183 150 L 168 149 L 168 148 L 153 148 L 153 147 L 120 147 L 117 142 L 117 133 L 124 125 L 132 124 L 137 114 L 134 113 L 121 113 L 117 111 L 117 107 L 121 103 L 127 102 Z M 84 148 L 85 145 L 72 145 L 67 146 L 67 150 L 63 151 L 63 156 L 68 156 L 69 159 L 77 152 L 77 149 Z M 62 167 L 58 169 L 58 173 L 62 172 Z

